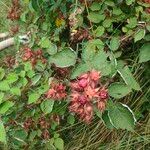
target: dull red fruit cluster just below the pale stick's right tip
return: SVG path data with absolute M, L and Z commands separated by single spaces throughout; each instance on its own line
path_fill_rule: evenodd
M 42 63 L 46 63 L 46 59 L 43 57 L 42 50 L 32 51 L 29 47 L 23 49 L 23 61 L 31 61 L 32 66 L 35 66 L 38 60 Z

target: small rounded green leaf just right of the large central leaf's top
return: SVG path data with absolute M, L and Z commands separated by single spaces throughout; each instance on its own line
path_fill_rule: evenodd
M 118 37 L 113 37 L 110 41 L 110 49 L 112 51 L 116 51 L 119 48 L 120 45 L 120 40 Z

